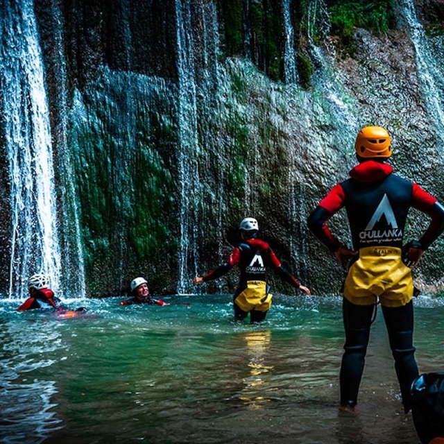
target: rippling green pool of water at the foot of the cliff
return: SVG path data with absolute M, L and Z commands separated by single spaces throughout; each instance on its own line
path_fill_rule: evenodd
M 0 306 L 2 443 L 417 444 L 382 315 L 359 414 L 341 413 L 340 298 L 275 296 L 263 325 L 234 323 L 231 296 L 67 300 L 80 318 Z M 444 301 L 415 300 L 421 372 L 443 370 Z

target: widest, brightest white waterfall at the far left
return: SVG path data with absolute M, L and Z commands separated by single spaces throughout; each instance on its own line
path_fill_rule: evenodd
M 6 4 L 5 4 L 6 3 Z M 60 287 L 53 152 L 33 1 L 3 2 L 1 103 L 10 172 L 10 296 L 25 296 L 29 275 Z

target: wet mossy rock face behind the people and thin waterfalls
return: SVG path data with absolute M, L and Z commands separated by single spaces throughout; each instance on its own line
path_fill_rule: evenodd
M 49 3 L 38 0 L 35 10 L 54 157 L 72 164 L 69 196 L 78 204 L 89 295 L 126 291 L 136 275 L 153 291 L 175 291 L 179 279 L 191 282 L 228 257 L 244 216 L 257 217 L 261 234 L 304 284 L 336 293 L 343 271 L 306 221 L 348 177 L 355 134 L 370 122 L 393 134 L 395 171 L 443 200 L 442 131 L 427 108 L 416 48 L 405 30 L 393 30 L 390 1 L 292 1 L 294 85 L 282 82 L 281 2 L 56 2 L 58 15 Z M 416 6 L 441 56 L 439 3 Z M 185 48 L 178 47 L 179 6 L 190 12 Z M 179 55 L 186 72 L 179 72 Z M 3 160 L 0 182 L 8 189 Z M 60 198 L 70 184 L 61 171 L 56 182 Z M 0 269 L 8 276 L 5 196 Z M 329 224 L 349 241 L 345 214 Z M 409 237 L 423 229 L 413 214 Z M 418 269 L 424 285 L 442 275 L 443 248 L 438 241 Z M 208 289 L 232 291 L 236 283 L 232 273 Z

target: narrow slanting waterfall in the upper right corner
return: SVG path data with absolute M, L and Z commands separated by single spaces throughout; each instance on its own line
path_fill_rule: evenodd
M 424 27 L 416 17 L 413 0 L 400 0 L 400 22 L 407 26 L 409 35 L 416 50 L 418 76 L 423 88 L 423 96 L 429 113 L 434 118 L 436 137 L 444 143 L 444 80 L 443 72 L 436 64 L 436 55 L 433 53 L 429 39 L 425 35 Z

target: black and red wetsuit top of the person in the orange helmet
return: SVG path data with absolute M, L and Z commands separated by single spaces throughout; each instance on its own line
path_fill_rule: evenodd
M 353 249 L 368 246 L 402 248 L 402 235 L 411 207 L 432 218 L 419 239 L 425 250 L 443 230 L 443 207 L 416 183 L 393 174 L 393 168 L 369 160 L 350 171 L 351 178 L 336 185 L 309 217 L 309 228 L 319 240 L 336 250 L 340 242 L 327 228 L 332 215 L 347 211 Z

